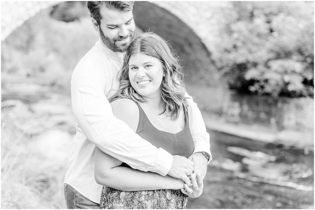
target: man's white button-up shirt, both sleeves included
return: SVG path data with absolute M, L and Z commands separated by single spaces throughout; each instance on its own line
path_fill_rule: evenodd
M 142 139 L 112 114 L 108 98 L 118 88 L 117 73 L 123 53 L 113 52 L 100 40 L 79 61 L 71 78 L 72 109 L 77 120 L 65 183 L 91 201 L 100 203 L 102 186 L 94 178 L 95 145 L 132 168 L 166 175 L 173 156 Z M 209 134 L 197 105 L 192 105 L 194 152 L 210 154 Z

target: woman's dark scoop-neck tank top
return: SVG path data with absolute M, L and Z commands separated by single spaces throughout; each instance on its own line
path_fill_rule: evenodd
M 180 155 L 188 158 L 194 151 L 192 134 L 189 129 L 188 113 L 185 111 L 185 127 L 178 133 L 169 133 L 155 128 L 149 121 L 146 113 L 135 101 L 139 108 L 139 124 L 136 133 L 152 143 L 157 148 L 163 148 L 171 155 Z M 163 123 L 163 122 L 162 122 Z

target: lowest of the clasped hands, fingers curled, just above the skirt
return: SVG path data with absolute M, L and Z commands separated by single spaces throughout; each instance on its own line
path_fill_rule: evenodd
M 196 180 L 196 174 L 197 174 L 197 180 Z M 191 180 L 192 180 L 192 187 L 188 187 L 186 184 L 184 185 L 185 189 L 180 189 L 180 191 L 191 197 L 191 198 L 196 198 L 199 197 L 203 191 L 203 179 L 200 173 L 194 172 L 191 175 Z

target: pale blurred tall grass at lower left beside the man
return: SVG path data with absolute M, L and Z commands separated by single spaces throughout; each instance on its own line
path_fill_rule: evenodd
M 51 161 L 34 147 L 36 137 L 20 130 L 14 108 L 2 110 L 1 208 L 65 208 L 67 160 Z

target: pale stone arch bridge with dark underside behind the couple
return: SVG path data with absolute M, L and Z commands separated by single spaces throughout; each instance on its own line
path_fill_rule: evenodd
M 63 3 L 62 1 L 2 1 L 1 41 L 39 11 Z M 147 2 L 136 1 L 135 23 L 142 30 L 153 30 L 169 40 L 187 77 L 193 82 L 217 85 L 219 74 L 211 59 L 215 11 L 229 6 L 219 2 Z

